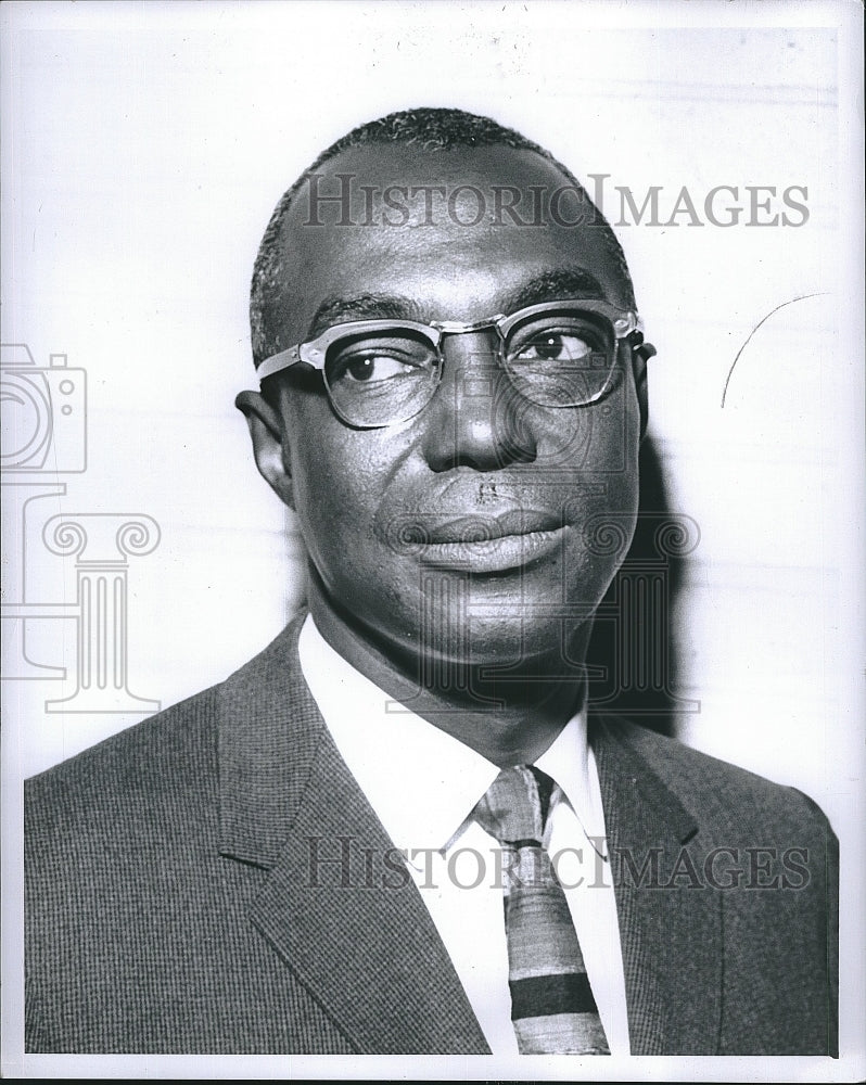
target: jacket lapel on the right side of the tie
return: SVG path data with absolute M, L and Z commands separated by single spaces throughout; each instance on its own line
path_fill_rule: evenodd
M 722 1012 L 722 894 L 699 888 L 692 873 L 700 878 L 703 863 L 695 818 L 641 756 L 639 728 L 596 717 L 590 736 L 613 867 L 632 1055 L 713 1054 Z M 650 865 L 641 876 L 645 861 Z

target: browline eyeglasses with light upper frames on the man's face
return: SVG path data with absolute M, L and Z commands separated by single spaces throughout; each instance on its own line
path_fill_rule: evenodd
M 375 430 L 407 422 L 433 398 L 444 368 L 443 342 L 491 329 L 497 360 L 514 388 L 542 407 L 588 407 L 615 384 L 620 342 L 650 357 L 637 312 L 608 302 L 530 305 L 511 316 L 459 323 L 353 320 L 267 358 L 260 382 L 300 362 L 321 372 L 331 405 L 347 425 Z

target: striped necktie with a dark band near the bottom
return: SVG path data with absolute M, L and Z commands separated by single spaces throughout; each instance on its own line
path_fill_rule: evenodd
M 505 768 L 473 812 L 506 850 L 511 1020 L 522 1055 L 610 1055 L 568 901 L 542 843 L 560 795 L 537 768 Z

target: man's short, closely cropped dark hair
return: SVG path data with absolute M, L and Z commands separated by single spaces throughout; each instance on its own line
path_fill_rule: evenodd
M 270 217 L 262 244 L 258 248 L 253 281 L 250 291 L 250 327 L 253 342 L 253 361 L 259 366 L 266 358 L 278 354 L 290 344 L 280 342 L 279 314 L 284 282 L 284 256 L 280 243 L 282 226 L 297 190 L 320 166 L 335 157 L 341 151 L 354 146 L 415 145 L 424 151 L 448 151 L 463 146 L 510 146 L 515 150 L 533 151 L 551 163 L 575 186 L 583 199 L 590 204 L 586 190 L 576 178 L 558 162 L 549 151 L 521 136 L 513 128 L 506 128 L 491 117 L 467 113 L 463 110 L 421 107 L 390 113 L 378 120 L 353 128 L 316 158 L 294 184 L 283 193 Z M 596 208 L 596 221 L 602 229 L 606 248 L 613 257 L 622 275 L 628 294 L 628 303 L 634 307 L 634 289 L 625 254 L 610 224 Z

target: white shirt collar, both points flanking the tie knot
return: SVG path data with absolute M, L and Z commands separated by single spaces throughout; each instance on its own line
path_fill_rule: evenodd
M 326 726 L 394 844 L 444 848 L 499 768 L 390 698 L 331 648 L 309 614 L 297 647 Z M 589 756 L 582 711 L 536 765 L 559 783 L 591 833 Z

